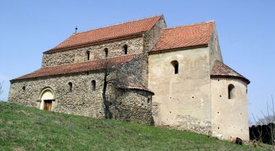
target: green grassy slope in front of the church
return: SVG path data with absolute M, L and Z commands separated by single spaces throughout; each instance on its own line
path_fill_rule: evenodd
M 0 102 L 0 150 L 263 150 L 181 132 Z

